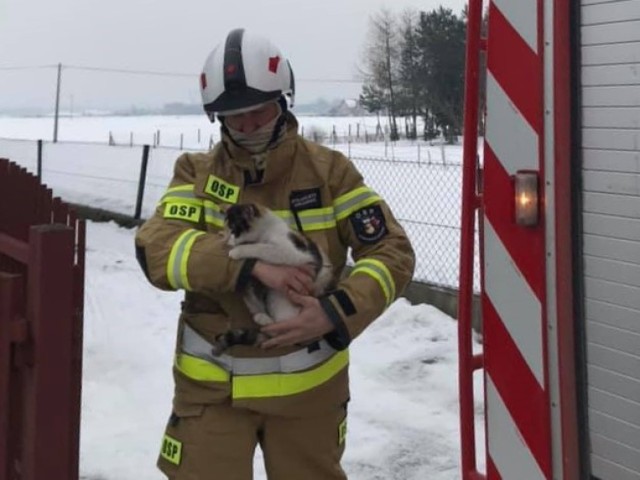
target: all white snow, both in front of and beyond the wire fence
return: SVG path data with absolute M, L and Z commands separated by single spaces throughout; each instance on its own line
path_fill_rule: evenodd
M 310 118 L 318 122 L 318 117 Z M 196 124 L 189 122 L 197 119 L 183 117 L 178 122 L 162 117 L 156 119 L 158 123 L 149 117 L 65 119 L 60 128 L 64 143 L 45 144 L 44 181 L 67 201 L 131 213 L 141 148 L 106 147 L 108 132 L 116 140 L 129 139 L 133 131 L 134 138 L 152 138 L 161 128 L 162 144 L 180 133 L 186 143 L 187 130 L 197 131 Z M 365 120 L 375 125 L 374 118 Z M 342 122 L 341 128 L 348 129 L 354 120 L 330 121 Z M 301 119 L 301 124 L 311 125 L 305 122 Z M 328 130 L 330 125 L 322 128 Z M 205 121 L 201 128 L 202 140 L 205 129 L 211 131 L 211 127 Z M 51 129 L 51 119 L 0 118 L 0 139 L 4 139 L 0 157 L 35 171 L 33 140 L 50 140 Z M 419 266 L 442 269 L 448 272 L 446 278 L 455 281 L 457 270 L 450 273 L 451 261 L 445 258 L 451 256 L 454 263 L 458 258 L 459 176 L 451 180 L 445 172 L 459 168 L 448 169 L 444 164 L 459 162 L 461 148 L 418 145 L 363 145 L 370 149 L 363 157 L 379 158 L 385 150 L 387 157 L 393 155 L 391 170 L 389 162 L 371 158 L 354 158 L 354 162 L 360 162 L 368 183 L 389 200 L 405 225 L 452 222 L 444 237 L 424 233 L 421 227 L 407 230 L 413 235 Z M 190 143 L 189 149 L 197 147 Z M 336 146 L 345 153 L 356 147 Z M 179 153 L 176 148 L 152 149 L 145 214 L 164 190 Z M 427 172 L 430 176 L 425 177 Z M 439 218 L 444 214 L 434 209 L 436 200 L 444 201 L 444 211 L 453 220 Z M 180 294 L 162 292 L 147 283 L 134 258 L 133 236 L 132 230 L 113 223 L 88 224 L 81 439 L 81 472 L 86 480 L 163 478 L 155 469 L 155 459 L 170 413 Z M 436 244 L 445 250 L 437 250 Z M 456 325 L 433 307 L 412 306 L 400 299 L 354 342 L 344 458 L 350 480 L 460 478 Z M 476 377 L 478 460 L 483 466 L 483 396 L 481 377 Z M 255 478 L 266 479 L 259 452 Z

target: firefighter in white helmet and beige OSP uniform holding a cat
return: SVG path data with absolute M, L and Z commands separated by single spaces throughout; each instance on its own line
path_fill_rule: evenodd
M 221 140 L 178 158 L 136 235 L 149 281 L 184 290 L 158 467 L 172 480 L 250 480 L 259 445 L 270 480 L 344 480 L 348 346 L 410 281 L 411 244 L 347 158 L 298 135 L 293 71 L 268 39 L 231 31 L 208 56 L 200 87 Z M 223 209 L 236 203 L 262 204 L 314 240 L 331 260 L 334 288 L 315 298 L 304 268 L 229 258 Z M 300 313 L 262 327 L 269 338 L 259 346 L 213 355 L 229 329 L 260 328 L 242 299 L 251 278 L 288 294 Z

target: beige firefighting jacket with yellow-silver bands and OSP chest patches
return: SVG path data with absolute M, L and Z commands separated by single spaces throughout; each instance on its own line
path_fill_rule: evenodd
M 389 207 L 342 154 L 306 141 L 287 114 L 287 134 L 264 170 L 226 135 L 208 153 L 182 155 L 156 212 L 138 231 L 150 282 L 185 291 L 174 364 L 174 408 L 230 399 L 267 413 L 305 415 L 348 399 L 348 345 L 403 291 L 414 254 Z M 208 342 L 230 328 L 258 328 L 243 299 L 255 261 L 232 260 L 220 206 L 259 203 L 323 248 L 334 288 L 321 304 L 335 330 L 313 348 L 238 345 L 224 358 Z M 355 262 L 342 276 L 347 252 Z M 343 277 L 343 278 L 341 278 Z M 319 348 L 320 345 L 322 348 Z

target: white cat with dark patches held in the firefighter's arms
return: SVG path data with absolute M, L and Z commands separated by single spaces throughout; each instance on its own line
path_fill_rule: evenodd
M 253 204 L 236 204 L 226 208 L 229 257 L 257 259 L 276 265 L 310 265 L 313 269 L 313 296 L 328 290 L 332 267 L 327 254 L 306 235 L 291 230 L 285 220 L 268 208 Z M 287 320 L 300 311 L 279 291 L 251 278 L 244 292 L 244 301 L 260 326 Z M 233 345 L 258 345 L 266 339 L 258 329 L 232 329 L 216 337 L 213 352 L 221 354 Z

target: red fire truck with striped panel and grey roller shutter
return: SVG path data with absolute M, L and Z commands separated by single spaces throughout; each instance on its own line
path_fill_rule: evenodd
M 640 0 L 471 0 L 467 35 L 461 478 L 640 480 Z

